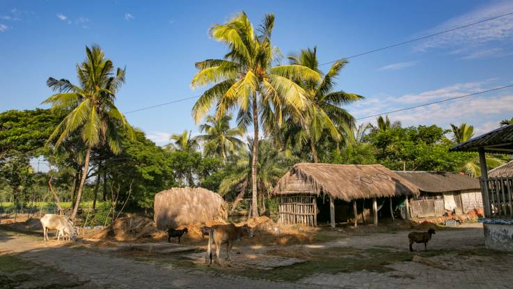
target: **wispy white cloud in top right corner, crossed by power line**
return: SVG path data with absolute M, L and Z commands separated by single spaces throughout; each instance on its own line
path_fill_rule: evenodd
M 479 8 L 463 15 L 452 17 L 432 29 L 423 31 L 419 35 L 424 36 L 427 34 L 454 29 L 459 26 L 503 15 L 512 10 L 513 1 L 498 1 L 491 5 L 480 6 Z M 492 41 L 510 41 L 512 37 L 513 15 L 507 15 L 498 19 L 468 26 L 463 29 L 444 33 L 440 36 L 435 36 L 434 38 L 429 38 L 417 45 L 416 50 L 426 51 L 428 49 L 441 47 L 482 47 Z M 471 50 L 473 51 L 473 49 L 461 49 L 461 52 L 468 52 Z

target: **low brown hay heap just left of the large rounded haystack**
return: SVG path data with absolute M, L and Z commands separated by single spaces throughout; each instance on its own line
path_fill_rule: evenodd
M 141 238 L 153 237 L 159 233 L 153 221 L 146 217 L 132 216 L 118 218 L 91 239 L 111 239 L 116 241 L 135 241 Z

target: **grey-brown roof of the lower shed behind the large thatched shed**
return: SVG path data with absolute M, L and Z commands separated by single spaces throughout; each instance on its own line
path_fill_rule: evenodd
M 420 192 L 445 193 L 480 190 L 478 179 L 461 173 L 436 173 L 430 171 L 396 171 L 395 173 L 416 185 Z

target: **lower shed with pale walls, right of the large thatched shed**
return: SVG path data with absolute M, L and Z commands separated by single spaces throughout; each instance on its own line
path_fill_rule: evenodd
M 396 171 L 418 187 L 420 194 L 410 201 L 414 217 L 442 216 L 447 211 L 464 214 L 482 208 L 479 180 L 461 173 Z

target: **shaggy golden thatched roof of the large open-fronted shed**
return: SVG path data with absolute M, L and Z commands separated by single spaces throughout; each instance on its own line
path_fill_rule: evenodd
M 418 189 L 381 164 L 296 164 L 274 187 L 275 195 L 330 194 L 352 201 L 418 194 Z

